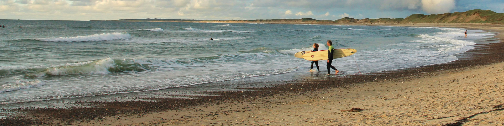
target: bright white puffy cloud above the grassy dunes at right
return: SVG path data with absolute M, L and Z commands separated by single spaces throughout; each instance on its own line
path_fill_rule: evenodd
M 455 0 L 422 0 L 422 10 L 429 14 L 442 14 L 455 8 Z

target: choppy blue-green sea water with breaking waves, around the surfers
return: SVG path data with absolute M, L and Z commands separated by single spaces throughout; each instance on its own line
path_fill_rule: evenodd
M 0 20 L 0 104 L 326 76 L 294 53 L 357 49 L 341 75 L 440 64 L 496 33 L 435 27 Z M 23 28 L 17 28 L 23 26 Z M 217 40 L 210 40 L 214 38 Z M 357 69 L 358 64 L 359 69 Z M 314 68 L 316 69 L 316 68 Z M 332 72 L 334 73 L 334 72 Z M 199 87 L 199 88 L 197 88 Z M 178 92 L 180 93 L 180 92 Z M 181 94 L 177 95 L 183 95 Z

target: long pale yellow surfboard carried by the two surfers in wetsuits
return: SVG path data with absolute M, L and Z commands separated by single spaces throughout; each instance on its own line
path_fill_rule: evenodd
M 355 52 L 357 52 L 357 50 L 353 48 L 334 49 L 333 57 L 334 58 L 346 57 L 355 54 Z M 303 58 L 310 61 L 327 60 L 329 58 L 327 56 L 327 53 L 328 53 L 327 50 L 306 52 L 303 54 Z

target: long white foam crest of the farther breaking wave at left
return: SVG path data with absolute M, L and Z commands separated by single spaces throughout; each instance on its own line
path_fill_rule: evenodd
M 53 42 L 83 42 L 83 41 L 109 41 L 109 40 L 120 40 L 129 39 L 131 37 L 127 32 L 122 33 L 102 33 L 86 36 L 76 36 L 76 37 L 57 37 L 57 38 L 38 38 L 35 40 L 40 41 L 53 41 Z

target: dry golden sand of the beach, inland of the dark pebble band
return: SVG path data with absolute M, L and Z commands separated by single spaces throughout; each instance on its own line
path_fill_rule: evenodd
M 384 24 L 373 24 L 384 25 Z M 388 24 L 390 25 L 390 24 Z M 504 25 L 397 24 L 501 33 Z M 463 33 L 461 33 L 463 34 Z M 502 38 L 504 34 L 499 34 Z M 469 36 L 470 37 L 470 36 Z M 328 81 L 331 79 L 328 79 Z M 504 125 L 504 62 L 440 70 L 408 79 L 275 94 L 76 125 Z M 349 112 L 353 107 L 364 109 Z M 458 123 L 457 123 L 458 122 Z

